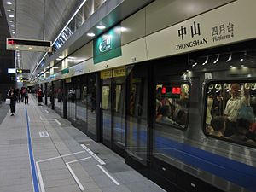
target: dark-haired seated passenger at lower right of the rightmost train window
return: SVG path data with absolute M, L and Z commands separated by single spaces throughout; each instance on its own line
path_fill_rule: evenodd
M 247 119 L 237 119 L 237 131 L 229 138 L 236 142 L 243 142 L 247 144 L 255 144 L 252 139 L 247 138 L 247 133 L 250 128 L 250 122 Z

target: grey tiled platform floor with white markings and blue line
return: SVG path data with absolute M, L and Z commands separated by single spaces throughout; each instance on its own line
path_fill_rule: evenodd
M 165 191 L 30 96 L 0 108 L 1 192 Z

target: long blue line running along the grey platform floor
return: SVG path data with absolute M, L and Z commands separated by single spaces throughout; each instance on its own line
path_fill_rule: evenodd
M 27 131 L 26 131 L 26 133 L 27 133 L 27 147 L 28 147 L 29 160 L 30 160 L 30 166 L 31 166 L 31 172 L 32 172 L 33 188 L 34 188 L 34 192 L 40 192 L 39 187 L 38 187 L 38 176 L 37 176 L 37 172 L 36 172 L 35 161 L 34 161 L 34 156 L 33 156 L 33 151 L 32 151 L 32 143 L 31 143 L 31 136 L 30 136 L 30 128 L 29 128 L 27 110 L 26 110 L 26 127 L 27 127 Z

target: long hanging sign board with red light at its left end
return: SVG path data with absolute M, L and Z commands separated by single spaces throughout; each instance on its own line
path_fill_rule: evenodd
M 38 52 L 51 52 L 51 41 L 6 38 L 7 50 L 26 50 Z

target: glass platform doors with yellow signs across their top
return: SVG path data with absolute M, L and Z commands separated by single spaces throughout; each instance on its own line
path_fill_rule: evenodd
M 125 154 L 125 67 L 102 79 L 102 143 Z

